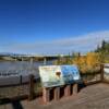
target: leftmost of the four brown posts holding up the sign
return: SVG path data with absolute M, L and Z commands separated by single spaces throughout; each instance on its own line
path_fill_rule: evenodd
M 50 101 L 50 88 L 43 88 L 43 100 L 46 104 Z

